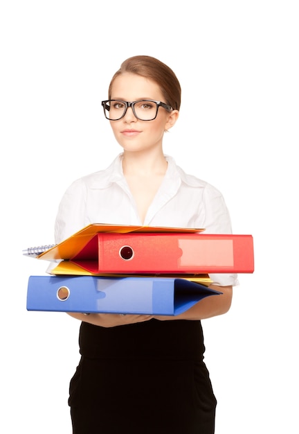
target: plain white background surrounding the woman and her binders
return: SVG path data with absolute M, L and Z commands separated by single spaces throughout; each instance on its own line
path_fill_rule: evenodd
M 48 263 L 21 251 L 52 243 L 66 187 L 120 152 L 100 101 L 137 54 L 181 81 L 165 153 L 217 186 L 235 234 L 255 241 L 229 313 L 203 322 L 216 434 L 299 432 L 296 4 L 1 2 L 1 433 L 71 434 L 80 323 L 26 311 L 28 277 Z

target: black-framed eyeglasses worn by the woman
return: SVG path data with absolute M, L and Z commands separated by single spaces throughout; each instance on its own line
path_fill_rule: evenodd
M 172 112 L 172 107 L 161 101 L 151 99 L 132 101 L 121 101 L 117 99 L 107 99 L 102 101 L 105 118 L 109 121 L 119 121 L 127 113 L 128 107 L 132 107 L 134 116 L 140 121 L 154 121 L 158 114 L 158 107 L 163 107 L 167 112 Z

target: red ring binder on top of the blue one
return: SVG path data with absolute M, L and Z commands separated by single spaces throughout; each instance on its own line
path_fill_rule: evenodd
M 254 270 L 251 235 L 199 232 L 130 232 L 94 234 L 76 252 L 60 245 L 40 255 L 63 259 L 53 274 L 82 268 L 93 274 L 249 273 Z M 70 254 L 71 253 L 71 254 Z

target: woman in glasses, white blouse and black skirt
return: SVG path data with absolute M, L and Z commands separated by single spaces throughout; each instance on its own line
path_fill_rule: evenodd
M 221 193 L 163 154 L 181 87 L 172 69 L 138 55 L 114 74 L 102 101 L 123 152 L 67 189 L 60 243 L 89 223 L 202 227 L 230 233 Z M 73 434 L 212 434 L 216 399 L 203 363 L 201 320 L 226 313 L 236 275 L 210 275 L 222 295 L 178 316 L 70 313 L 80 320 L 80 363 L 71 379 Z

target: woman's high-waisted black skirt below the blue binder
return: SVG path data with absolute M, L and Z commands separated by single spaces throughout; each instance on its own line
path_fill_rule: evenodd
M 200 321 L 82 322 L 73 434 L 213 434 L 216 399 Z

